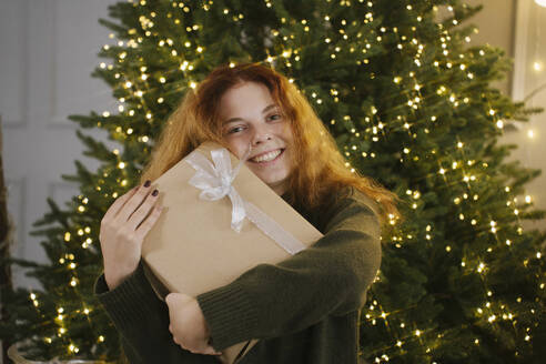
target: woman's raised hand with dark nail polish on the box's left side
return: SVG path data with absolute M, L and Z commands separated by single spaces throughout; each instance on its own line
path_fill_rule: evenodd
M 144 237 L 163 210 L 158 203 L 159 191 L 150 192 L 146 181 L 118 198 L 102 218 L 99 240 L 110 290 L 136 270 Z

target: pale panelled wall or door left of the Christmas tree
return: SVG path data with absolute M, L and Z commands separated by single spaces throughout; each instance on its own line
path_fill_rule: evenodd
M 117 109 L 110 88 L 91 78 L 97 53 L 110 30 L 99 24 L 115 0 L 0 0 L 0 115 L 3 130 L 8 208 L 16 224 L 18 257 L 44 261 L 43 236 L 30 236 L 52 198 L 61 208 L 79 193 L 61 174 L 75 174 L 74 160 L 89 170 L 99 163 L 82 154 L 77 123 L 69 114 Z M 83 130 L 104 141 L 105 132 Z M 17 285 L 38 283 L 14 273 Z

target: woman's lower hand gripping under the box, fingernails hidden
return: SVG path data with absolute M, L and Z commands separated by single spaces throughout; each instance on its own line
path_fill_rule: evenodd
M 209 327 L 195 299 L 170 293 L 165 297 L 171 324 L 169 331 L 182 348 L 194 354 L 222 355 L 209 345 Z

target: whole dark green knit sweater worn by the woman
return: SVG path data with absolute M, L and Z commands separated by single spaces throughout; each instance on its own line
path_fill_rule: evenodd
M 313 211 L 294 206 L 324 236 L 279 264 L 260 264 L 200 294 L 212 346 L 222 351 L 260 338 L 240 364 L 357 363 L 360 309 L 381 263 L 372 205 L 351 189 Z M 131 363 L 219 363 L 173 342 L 168 306 L 148 283 L 142 264 L 112 291 L 101 275 L 95 294 Z

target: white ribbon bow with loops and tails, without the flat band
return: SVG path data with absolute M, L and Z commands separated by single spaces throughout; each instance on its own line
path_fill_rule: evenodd
M 243 228 L 243 221 L 246 216 L 244 202 L 239 192 L 233 188 L 232 182 L 235 180 L 241 170 L 242 162 L 250 155 L 251 150 L 246 152 L 235 169 L 231 166 L 231 159 L 228 150 L 216 149 L 211 151 L 214 165 L 201 153 L 188 155 L 186 161 L 195 169 L 196 173 L 189 181 L 191 185 L 201 190 L 200 199 L 206 201 L 216 201 L 228 195 L 233 205 L 231 214 L 231 228 L 237 233 Z

